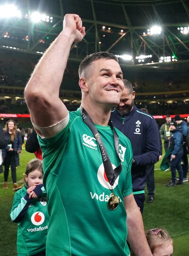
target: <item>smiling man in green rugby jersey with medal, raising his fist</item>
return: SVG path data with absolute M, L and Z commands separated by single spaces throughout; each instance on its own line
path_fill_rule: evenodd
M 76 14 L 34 69 L 25 89 L 43 151 L 50 222 L 47 256 L 152 256 L 132 193 L 132 150 L 110 113 L 124 85 L 117 58 L 100 52 L 79 66 L 82 104 L 68 112 L 59 89 L 73 42 L 85 36 Z

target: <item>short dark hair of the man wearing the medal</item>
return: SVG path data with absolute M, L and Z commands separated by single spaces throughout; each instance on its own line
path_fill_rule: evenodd
M 118 62 L 118 58 L 110 53 L 110 52 L 95 52 L 95 53 L 92 53 L 90 55 L 87 55 L 83 60 L 82 62 L 80 63 L 79 65 L 79 70 L 78 70 L 78 73 L 79 73 L 79 77 L 81 77 L 81 74 L 82 72 L 89 66 L 91 65 L 95 60 L 98 60 L 98 59 L 114 59 L 115 61 Z

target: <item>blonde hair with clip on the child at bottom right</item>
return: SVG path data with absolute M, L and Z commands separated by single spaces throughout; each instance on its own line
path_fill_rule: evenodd
M 164 228 L 153 228 L 146 232 L 146 239 L 151 252 L 154 253 L 155 248 L 162 247 L 164 243 L 170 241 L 173 244 L 172 238 Z

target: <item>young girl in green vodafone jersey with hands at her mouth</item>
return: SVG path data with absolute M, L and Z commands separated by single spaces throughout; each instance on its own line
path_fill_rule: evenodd
M 41 160 L 28 162 L 25 186 L 15 194 L 10 218 L 18 223 L 18 256 L 45 256 L 49 216 Z

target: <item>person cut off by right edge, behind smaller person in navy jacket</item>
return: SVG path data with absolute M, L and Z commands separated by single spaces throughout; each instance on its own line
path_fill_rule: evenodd
M 187 178 L 187 172 L 189 170 L 189 161 L 188 161 L 188 155 L 187 155 L 187 149 L 186 149 L 186 138 L 188 135 L 188 125 L 185 121 L 182 120 L 179 114 L 176 114 L 174 117 L 174 121 L 177 123 L 178 128 L 182 132 L 182 137 L 183 137 L 183 156 L 182 156 L 182 161 L 183 164 L 182 166 L 182 171 L 183 171 L 183 182 L 189 181 Z

